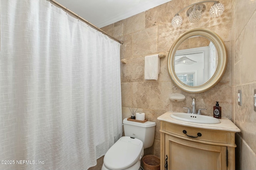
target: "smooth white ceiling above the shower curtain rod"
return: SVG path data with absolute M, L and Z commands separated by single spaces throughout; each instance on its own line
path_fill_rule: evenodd
M 55 0 L 101 28 L 171 0 Z

